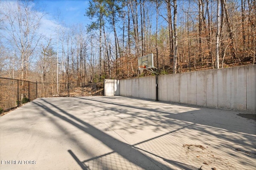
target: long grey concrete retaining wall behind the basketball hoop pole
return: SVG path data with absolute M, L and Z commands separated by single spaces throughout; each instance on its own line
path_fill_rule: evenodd
M 115 95 L 156 99 L 154 76 L 119 81 Z M 160 75 L 158 99 L 256 112 L 256 65 Z

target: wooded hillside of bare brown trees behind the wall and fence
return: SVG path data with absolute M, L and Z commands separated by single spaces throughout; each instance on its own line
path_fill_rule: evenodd
M 0 5 L 0 77 L 82 86 L 145 76 L 138 57 L 149 53 L 160 74 L 256 63 L 256 0 L 90 0 L 90 24 L 58 16 L 53 36 L 32 2 Z

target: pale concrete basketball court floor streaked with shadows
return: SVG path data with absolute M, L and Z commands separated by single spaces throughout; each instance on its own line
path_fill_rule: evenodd
M 0 117 L 0 169 L 253 170 L 256 121 L 241 114 L 251 113 L 120 96 L 40 98 Z

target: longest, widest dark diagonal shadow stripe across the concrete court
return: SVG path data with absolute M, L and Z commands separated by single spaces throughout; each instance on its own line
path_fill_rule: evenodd
M 158 162 L 157 160 L 152 160 L 152 158 L 149 158 L 146 155 L 142 154 L 140 151 L 138 151 L 132 145 L 124 143 L 124 142 L 121 142 L 120 140 L 117 140 L 116 138 L 113 138 L 112 136 L 102 132 L 101 130 L 98 130 L 97 128 L 95 128 L 94 126 L 90 125 L 89 123 L 86 123 L 86 122 L 78 119 L 74 115 L 71 115 L 70 113 L 67 113 L 63 109 L 58 108 L 57 106 L 53 105 L 52 103 L 49 103 L 45 99 L 41 99 L 41 100 L 44 101 L 45 103 L 47 103 L 48 105 L 51 105 L 54 108 L 58 109 L 61 113 L 64 113 L 67 117 L 65 117 L 63 115 L 60 115 L 56 111 L 53 111 L 52 109 L 49 109 L 49 108 L 47 109 L 48 113 L 50 113 L 50 114 L 52 114 L 52 115 L 54 115 L 54 116 L 56 116 L 56 117 L 58 117 L 58 118 L 60 118 L 60 119 L 62 119 L 64 121 L 66 121 L 68 123 L 70 123 L 71 125 L 79 128 L 80 130 L 90 134 L 94 138 L 102 141 L 102 143 L 104 143 L 106 146 L 111 148 L 114 153 L 117 153 L 122 158 L 125 158 L 126 160 L 128 160 L 128 162 L 131 162 L 132 164 L 135 164 L 135 165 L 139 166 L 140 168 L 143 168 L 143 169 L 146 169 L 146 170 L 150 170 L 150 169 L 152 169 L 152 170 L 166 169 L 167 170 L 167 169 L 170 169 L 170 167 L 162 164 L 161 162 Z M 34 103 L 36 105 L 42 107 L 43 109 L 47 108 L 43 103 L 38 103 L 36 101 L 34 101 Z M 81 123 L 84 126 L 76 123 L 72 119 L 75 120 L 75 121 L 78 121 L 79 123 Z M 88 169 L 88 167 L 83 164 L 84 162 L 87 162 L 87 161 L 82 161 L 81 162 L 77 158 L 77 156 L 75 156 L 75 154 L 71 150 L 68 150 L 68 152 L 76 160 L 76 162 L 78 162 L 78 164 L 80 165 L 80 167 L 82 169 Z M 100 156 L 100 157 L 102 157 L 102 156 Z M 96 159 L 98 159 L 100 157 L 96 157 Z M 92 159 L 90 159 L 90 160 L 92 160 Z M 126 162 L 127 161 L 122 161 L 122 166 L 124 166 L 124 164 Z M 118 160 L 115 163 L 118 163 Z M 105 166 L 110 166 L 110 165 L 105 164 Z M 182 168 L 182 166 L 180 166 L 179 164 L 175 164 L 175 166 L 178 166 L 178 167 Z M 108 169 L 108 167 L 105 167 L 105 168 Z

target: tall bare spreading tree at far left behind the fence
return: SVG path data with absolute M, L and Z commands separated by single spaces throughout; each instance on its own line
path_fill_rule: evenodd
M 10 4 L 9 4 L 10 5 Z M 11 6 L 11 5 L 10 5 Z M 9 42 L 19 51 L 21 61 L 21 79 L 28 79 L 29 61 L 42 39 L 38 32 L 44 13 L 32 9 L 30 2 L 17 1 L 15 8 L 6 6 L 4 30 Z

